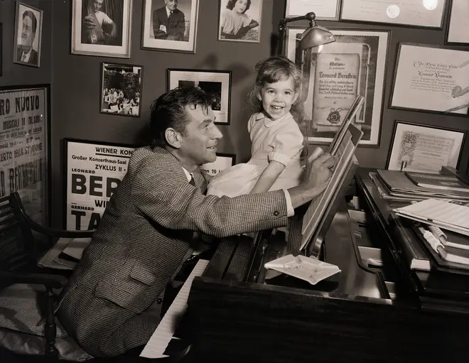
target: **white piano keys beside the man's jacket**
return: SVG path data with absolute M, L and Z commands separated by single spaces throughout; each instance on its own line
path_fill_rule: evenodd
M 163 358 L 168 357 L 165 353 L 166 347 L 168 347 L 171 339 L 178 339 L 173 337 L 174 332 L 178 325 L 178 318 L 185 313 L 185 310 L 188 308 L 188 296 L 190 291 L 190 286 L 195 276 L 202 276 L 203 271 L 207 267 L 208 260 L 199 260 L 194 266 L 194 269 L 188 276 L 183 287 L 180 289 L 178 295 L 174 299 L 171 306 L 166 311 L 166 314 L 161 319 L 160 324 L 156 327 L 155 332 L 151 335 L 151 338 L 148 343 L 146 343 L 144 350 L 141 351 L 140 357 L 145 358 Z

